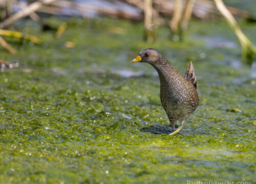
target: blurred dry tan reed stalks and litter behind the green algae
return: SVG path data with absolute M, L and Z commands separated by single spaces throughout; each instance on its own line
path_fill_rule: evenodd
M 126 1 L 67 1 L 67 0 L 44 0 L 44 1 L 17 1 L 1 0 L 1 20 L 0 35 L 23 38 L 38 44 L 39 39 L 26 33 L 4 30 L 16 21 L 30 17 L 41 25 L 42 30 L 55 29 L 56 37 L 60 37 L 67 28 L 67 23 L 53 28 L 44 21 L 44 17 L 83 17 L 92 18 L 96 16 L 109 16 L 112 18 L 125 18 L 132 21 L 144 21 L 144 37 L 148 42 L 156 39 L 156 31 L 159 26 L 169 26 L 172 32 L 172 39 L 179 41 L 183 39 L 183 34 L 188 29 L 188 22 L 191 16 L 201 20 L 209 20 L 224 16 L 233 32 L 237 35 L 242 48 L 242 56 L 252 62 L 252 56 L 256 49 L 250 40 L 243 34 L 237 24 L 235 17 L 245 18 L 248 21 L 255 21 L 254 12 L 251 11 L 249 1 L 239 3 L 239 1 L 226 1 L 233 6 L 225 6 L 222 0 L 126 0 Z M 247 4 L 244 5 L 244 4 Z M 252 3 L 251 3 L 252 4 Z M 249 11 L 240 9 L 244 6 Z M 236 8 L 239 7 L 239 8 Z M 118 31 L 118 30 L 116 30 Z M 120 31 L 120 30 L 119 30 Z M 0 43 L 8 52 L 15 54 L 16 51 L 2 37 Z

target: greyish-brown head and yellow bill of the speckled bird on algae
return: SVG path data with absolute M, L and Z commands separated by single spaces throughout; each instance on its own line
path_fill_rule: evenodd
M 140 51 L 138 56 L 131 61 L 131 63 L 135 62 L 145 62 L 152 65 L 155 65 L 157 61 L 160 59 L 160 53 L 155 49 L 144 49 Z

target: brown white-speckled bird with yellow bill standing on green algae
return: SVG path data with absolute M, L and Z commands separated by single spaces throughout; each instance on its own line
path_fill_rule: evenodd
M 180 132 L 185 120 L 199 105 L 193 63 L 190 61 L 183 76 L 172 63 L 152 48 L 140 51 L 138 56 L 131 61 L 131 63 L 135 62 L 151 64 L 158 72 L 161 104 L 173 130 L 169 135 Z M 175 130 L 177 121 L 181 125 Z

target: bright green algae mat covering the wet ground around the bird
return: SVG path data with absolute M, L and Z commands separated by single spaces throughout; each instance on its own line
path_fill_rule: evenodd
M 241 61 L 226 22 L 191 21 L 182 42 L 160 27 L 150 44 L 143 24 L 64 21 L 58 39 L 33 22 L 17 24 L 41 44 L 6 38 L 18 53 L 0 50 L 19 63 L 0 73 L 0 183 L 256 181 L 255 66 Z M 255 43 L 255 24 L 240 25 Z M 154 68 L 130 63 L 145 48 L 182 73 L 190 60 L 195 66 L 200 105 L 174 136 Z

